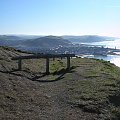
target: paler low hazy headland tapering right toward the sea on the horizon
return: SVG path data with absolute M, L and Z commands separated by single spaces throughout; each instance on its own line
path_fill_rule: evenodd
M 113 37 L 97 36 L 97 35 L 83 35 L 83 36 L 62 36 L 64 39 L 68 39 L 73 43 L 91 43 L 101 42 L 106 40 L 114 40 Z

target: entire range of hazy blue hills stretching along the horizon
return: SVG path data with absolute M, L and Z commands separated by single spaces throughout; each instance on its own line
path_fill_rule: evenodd
M 73 43 L 91 43 L 114 40 L 112 37 L 97 35 L 84 36 L 34 36 L 34 35 L 0 35 L 0 45 L 15 47 L 20 50 L 38 52 L 60 47 L 70 47 Z M 42 51 L 44 52 L 44 51 Z

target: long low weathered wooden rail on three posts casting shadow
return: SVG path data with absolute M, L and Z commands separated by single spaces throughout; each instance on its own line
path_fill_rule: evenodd
M 71 57 L 75 57 L 75 54 L 36 54 L 36 55 L 12 57 L 12 60 L 18 60 L 18 70 L 21 70 L 23 59 L 45 58 L 46 59 L 46 74 L 49 74 L 49 59 L 50 58 L 67 58 L 67 69 L 70 70 L 70 58 Z

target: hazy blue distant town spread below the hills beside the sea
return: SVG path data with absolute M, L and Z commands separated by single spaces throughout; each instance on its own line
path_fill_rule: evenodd
M 90 46 L 84 44 L 75 44 L 69 47 L 58 46 L 51 49 L 27 49 L 34 53 L 45 53 L 45 54 L 75 54 L 75 55 L 117 55 L 120 49 L 104 48 L 103 46 Z

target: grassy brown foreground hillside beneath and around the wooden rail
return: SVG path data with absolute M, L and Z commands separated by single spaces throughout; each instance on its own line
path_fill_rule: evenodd
M 65 62 L 24 60 L 22 71 L 11 57 L 27 55 L 0 47 L 1 120 L 119 120 L 120 68 L 109 62 L 88 58 Z

